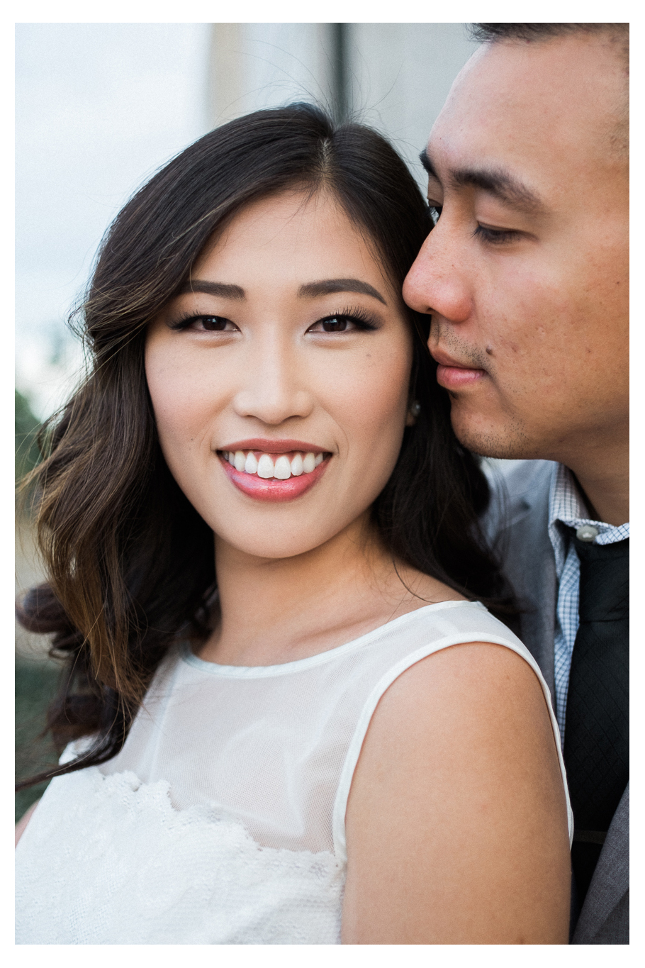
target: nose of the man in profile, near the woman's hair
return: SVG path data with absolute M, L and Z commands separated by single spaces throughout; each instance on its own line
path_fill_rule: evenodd
M 403 282 L 403 299 L 418 313 L 450 322 L 464 322 L 472 311 L 465 259 L 454 234 L 442 230 L 441 220 L 425 239 Z

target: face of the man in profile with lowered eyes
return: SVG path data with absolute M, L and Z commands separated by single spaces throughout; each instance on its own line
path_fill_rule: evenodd
M 604 35 L 484 46 L 432 129 L 439 219 L 403 295 L 478 453 L 572 466 L 627 440 L 625 84 Z

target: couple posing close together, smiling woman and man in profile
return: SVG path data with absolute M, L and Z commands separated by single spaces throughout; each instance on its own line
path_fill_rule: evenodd
M 628 943 L 627 34 L 479 30 L 434 227 L 292 106 L 110 229 L 37 471 L 18 943 Z

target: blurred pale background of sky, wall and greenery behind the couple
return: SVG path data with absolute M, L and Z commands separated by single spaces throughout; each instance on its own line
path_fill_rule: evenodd
M 461 23 L 17 24 L 16 479 L 80 373 L 66 318 L 103 232 L 144 181 L 223 122 L 297 100 L 378 129 L 424 187 L 419 152 L 474 48 Z M 19 511 L 16 593 L 39 578 Z M 19 775 L 55 762 L 38 739 L 57 678 L 46 648 L 16 630 Z M 16 815 L 43 789 L 19 794 Z

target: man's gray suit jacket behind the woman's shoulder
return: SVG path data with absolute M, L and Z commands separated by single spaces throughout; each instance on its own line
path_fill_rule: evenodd
M 548 536 L 550 461 L 513 461 L 485 470 L 493 491 L 484 527 L 523 613 L 519 637 L 554 689 L 555 557 Z M 607 832 L 575 924 L 573 945 L 630 943 L 630 787 Z

